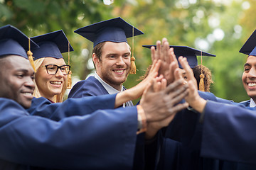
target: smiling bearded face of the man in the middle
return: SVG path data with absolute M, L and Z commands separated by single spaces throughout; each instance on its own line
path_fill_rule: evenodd
M 105 42 L 101 60 L 93 55 L 92 58 L 100 78 L 114 89 L 121 90 L 131 67 L 131 51 L 127 42 Z

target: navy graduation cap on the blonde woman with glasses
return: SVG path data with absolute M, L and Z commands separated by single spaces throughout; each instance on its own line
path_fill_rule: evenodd
M 63 30 L 38 35 L 31 38 L 31 40 L 40 46 L 40 48 L 32 51 L 34 60 L 42 57 L 63 58 L 61 53 L 68 52 L 68 45 L 70 45 Z M 71 45 L 70 51 L 73 51 Z

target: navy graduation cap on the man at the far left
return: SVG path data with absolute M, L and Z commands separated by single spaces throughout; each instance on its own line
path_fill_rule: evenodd
M 31 49 L 38 48 L 33 40 L 30 43 Z M 28 37 L 20 30 L 11 25 L 0 28 L 0 56 L 19 55 L 28 59 L 28 50 Z

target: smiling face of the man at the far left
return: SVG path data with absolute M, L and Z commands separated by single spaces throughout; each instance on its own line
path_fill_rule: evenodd
M 13 99 L 24 108 L 29 108 L 35 88 L 31 64 L 17 55 L 10 55 L 6 60 L 7 62 L 1 64 L 0 97 Z

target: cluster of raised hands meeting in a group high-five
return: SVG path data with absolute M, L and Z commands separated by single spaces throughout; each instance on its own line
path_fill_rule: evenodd
M 154 79 L 147 85 L 141 100 L 141 105 L 147 113 L 147 139 L 154 137 L 159 129 L 168 126 L 178 111 L 188 105 L 195 106 L 195 103 L 201 100 L 196 79 L 186 57 L 179 57 L 178 61 L 186 71 L 187 80 L 183 79 L 174 49 L 169 47 L 166 38 L 163 38 L 162 42 L 157 41 L 156 48 L 151 47 L 151 60 L 153 65 L 149 75 L 154 75 Z M 151 100 L 152 98 L 154 100 Z M 186 102 L 181 102 L 182 99 Z M 150 102 L 152 103 L 149 104 Z M 147 105 L 144 106 L 144 103 Z

